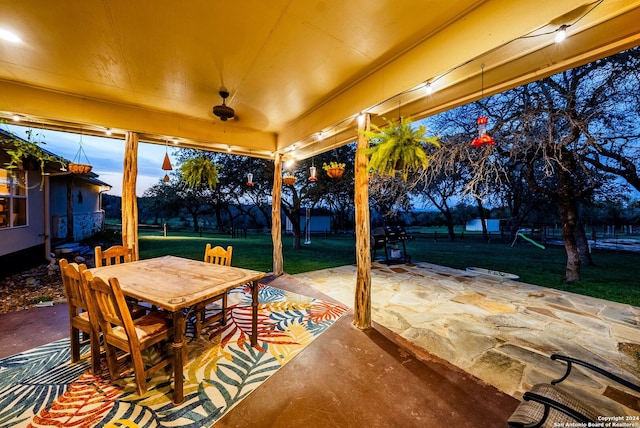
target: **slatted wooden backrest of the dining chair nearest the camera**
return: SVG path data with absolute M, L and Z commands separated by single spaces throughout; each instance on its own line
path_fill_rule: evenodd
M 133 318 L 118 279 L 109 278 L 109 282 L 105 282 L 96 276 L 89 281 L 88 290 L 102 334 L 107 337 L 114 336 L 113 329 L 121 327 L 125 330 L 129 342 L 139 346 Z

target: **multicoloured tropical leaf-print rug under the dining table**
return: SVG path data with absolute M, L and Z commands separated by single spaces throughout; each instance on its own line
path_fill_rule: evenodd
M 71 364 L 69 340 L 63 339 L 0 360 L 0 427 L 212 425 L 347 310 L 264 285 L 259 297 L 256 348 L 249 341 L 249 287 L 229 293 L 226 326 L 195 340 L 188 323 L 181 405 L 171 401 L 171 367 L 148 379 L 148 392 L 139 396 L 133 373 L 112 382 L 104 361 L 99 377 L 90 373 L 88 358 Z M 88 355 L 88 348 L 83 351 Z

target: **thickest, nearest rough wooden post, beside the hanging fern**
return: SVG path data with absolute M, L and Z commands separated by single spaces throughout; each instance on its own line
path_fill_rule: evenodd
M 362 133 L 370 130 L 371 116 L 365 114 L 358 120 L 358 142 L 355 160 L 356 205 L 356 295 L 353 324 L 359 329 L 371 328 L 371 225 L 369 216 L 369 139 Z

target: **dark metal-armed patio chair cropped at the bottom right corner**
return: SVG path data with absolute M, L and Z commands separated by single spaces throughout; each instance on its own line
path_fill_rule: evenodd
M 509 418 L 510 427 L 564 427 L 577 426 L 577 424 L 587 426 L 590 422 L 601 422 L 598 417 L 607 415 L 592 408 L 581 397 L 573 396 L 556 386 L 569 376 L 573 364 L 585 367 L 632 391 L 640 392 L 640 385 L 633 384 L 586 361 L 558 354 L 551 355 L 551 359 L 564 361 L 567 364 L 564 375 L 559 379 L 552 380 L 549 384 L 536 384 L 530 391 L 525 392 L 522 397 L 523 401 Z

